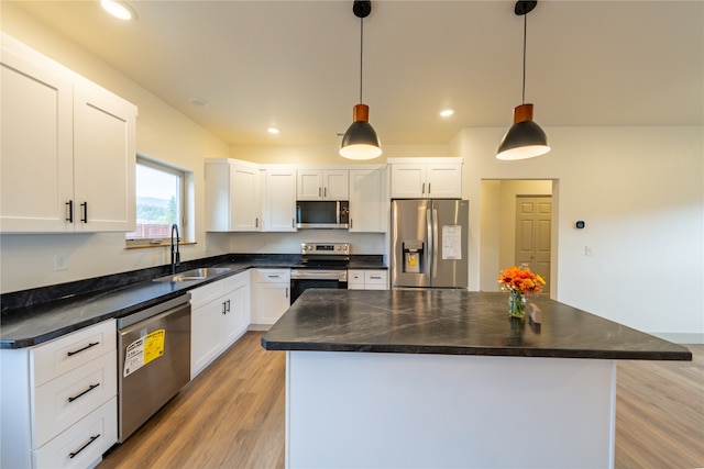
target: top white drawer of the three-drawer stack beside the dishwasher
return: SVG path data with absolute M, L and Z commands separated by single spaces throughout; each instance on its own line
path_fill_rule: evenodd
M 34 387 L 117 348 L 114 320 L 103 321 L 32 349 Z

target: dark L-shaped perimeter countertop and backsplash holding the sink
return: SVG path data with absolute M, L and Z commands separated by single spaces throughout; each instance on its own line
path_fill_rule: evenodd
M 382 256 L 352 256 L 350 268 L 386 268 Z M 299 255 L 229 255 L 184 263 L 178 271 L 196 267 L 230 267 L 224 275 L 202 281 L 152 281 L 168 268 L 144 269 L 2 295 L 0 348 L 24 348 L 51 340 L 105 320 L 123 317 L 188 290 L 250 268 L 300 266 Z M 13 304 L 14 303 L 14 304 Z

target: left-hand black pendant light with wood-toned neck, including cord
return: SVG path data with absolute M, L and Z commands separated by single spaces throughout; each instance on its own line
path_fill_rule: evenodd
M 354 0 L 354 15 L 360 19 L 360 103 L 352 111 L 352 125 L 344 133 L 340 155 L 349 159 L 372 159 L 382 154 L 374 127 L 370 125 L 370 107 L 362 104 L 362 68 L 364 57 L 364 19 L 372 12 L 372 2 Z

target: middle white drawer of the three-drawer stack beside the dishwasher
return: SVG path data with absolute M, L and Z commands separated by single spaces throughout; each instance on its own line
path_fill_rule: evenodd
M 117 350 L 34 389 L 34 448 L 118 393 Z

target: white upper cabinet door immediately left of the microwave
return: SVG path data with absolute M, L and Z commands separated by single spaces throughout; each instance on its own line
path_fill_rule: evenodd
M 295 232 L 296 168 L 267 166 L 264 172 L 266 176 L 262 230 L 265 232 Z

